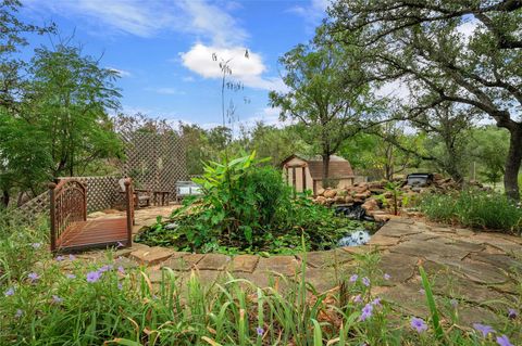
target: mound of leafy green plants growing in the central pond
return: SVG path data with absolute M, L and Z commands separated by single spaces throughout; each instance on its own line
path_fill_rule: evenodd
M 135 241 L 197 252 L 291 253 L 302 234 L 309 249 L 324 249 L 363 226 L 335 216 L 307 195 L 293 198 L 281 171 L 262 166 L 264 161 L 254 155 L 207 165 L 204 175 L 195 179 L 203 195 Z M 165 229 L 165 223 L 176 227 Z

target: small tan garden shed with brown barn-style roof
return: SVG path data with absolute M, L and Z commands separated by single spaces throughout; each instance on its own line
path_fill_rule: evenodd
M 313 194 L 323 188 L 323 159 L 321 156 L 307 157 L 290 155 L 281 163 L 283 176 L 297 192 L 311 190 Z M 350 187 L 356 176 L 350 163 L 336 155 L 330 156 L 328 180 L 337 182 L 337 188 Z

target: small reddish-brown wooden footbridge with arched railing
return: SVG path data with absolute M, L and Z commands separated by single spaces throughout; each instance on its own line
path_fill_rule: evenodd
M 85 185 L 75 179 L 49 184 L 51 251 L 78 251 L 95 247 L 128 247 L 133 244 L 133 182 L 124 181 L 126 216 L 87 220 Z

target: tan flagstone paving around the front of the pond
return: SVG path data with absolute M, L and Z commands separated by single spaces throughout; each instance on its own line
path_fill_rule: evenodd
M 167 216 L 172 208 L 136 210 L 135 230 L 153 223 L 157 215 Z M 520 236 L 434 226 L 412 219 L 389 220 L 363 246 L 297 256 L 189 254 L 142 244 L 134 244 L 116 254 L 124 257 L 122 260 L 127 267 L 133 262 L 147 267 L 151 282 L 161 280 L 162 268 L 170 268 L 183 279 L 194 271 L 203 283 L 213 283 L 228 272 L 261 286 L 279 274 L 295 279 L 302 273 L 306 258 L 306 280 L 318 291 L 326 291 L 353 273 L 356 255 L 369 252 L 380 253 L 380 269 L 390 275 L 389 280 L 373 286 L 373 293 L 407 315 L 426 317 L 428 313 L 421 290 L 420 265 L 433 280 L 433 291 L 443 306 L 450 298 L 459 302 L 461 323 L 470 324 L 477 318 L 487 322 L 494 318 L 494 311 L 507 311 L 506 304 L 520 299 L 520 289 L 513 281 L 517 271 L 522 274 Z M 96 256 L 96 252 L 82 256 Z

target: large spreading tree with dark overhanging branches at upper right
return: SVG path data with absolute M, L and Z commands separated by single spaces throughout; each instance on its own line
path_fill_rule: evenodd
M 521 1 L 339 0 L 330 13 L 333 30 L 350 33 L 345 43 L 365 48 L 373 79 L 409 84 L 414 95 L 410 117 L 455 102 L 506 128 L 505 190 L 519 198 Z

